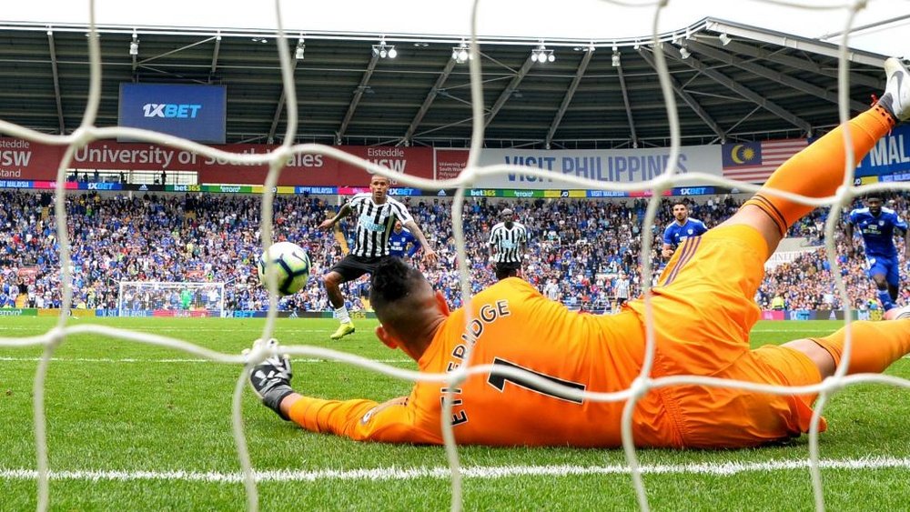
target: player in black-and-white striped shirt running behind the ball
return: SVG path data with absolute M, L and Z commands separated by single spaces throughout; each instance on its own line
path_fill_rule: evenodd
M 407 226 L 410 232 L 417 236 L 423 249 L 423 259 L 428 264 L 436 262 L 436 252 L 427 237 L 423 236 L 420 227 L 410 216 L 408 208 L 397 199 L 388 196 L 389 178 L 375 175 L 369 181 L 369 193 L 357 194 L 344 206 L 341 206 L 338 215 L 325 220 L 320 229 L 330 229 L 332 226 L 348 215 L 357 218 L 357 231 L 354 236 L 354 247 L 348 256 L 345 256 L 329 273 L 322 276 L 329 294 L 329 302 L 335 308 L 335 316 L 341 325 L 331 336 L 339 339 L 354 332 L 354 323 L 350 321 L 348 307 L 344 304 L 340 286 L 357 279 L 364 274 L 372 274 L 379 262 L 389 257 L 389 233 L 395 221 Z

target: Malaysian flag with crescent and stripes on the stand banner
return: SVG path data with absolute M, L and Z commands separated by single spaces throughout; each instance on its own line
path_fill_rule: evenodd
M 804 138 L 765 140 L 739 144 L 724 144 L 723 177 L 764 183 L 774 169 L 799 153 L 808 142 Z

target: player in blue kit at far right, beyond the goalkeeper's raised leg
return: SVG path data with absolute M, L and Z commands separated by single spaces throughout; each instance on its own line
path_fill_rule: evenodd
M 878 300 L 887 311 L 895 306 L 900 284 L 900 262 L 895 247 L 895 229 L 904 236 L 904 257 L 910 256 L 910 233 L 907 224 L 891 208 L 882 207 L 882 198 L 868 196 L 865 207 L 854 208 L 847 216 L 844 233 L 848 254 L 854 254 L 854 226 L 859 227 L 865 245 L 865 261 L 869 276 L 878 287 Z

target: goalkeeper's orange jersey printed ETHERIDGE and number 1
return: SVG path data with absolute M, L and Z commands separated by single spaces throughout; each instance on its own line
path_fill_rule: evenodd
M 623 335 L 641 332 L 632 312 L 609 318 L 574 313 L 515 277 L 474 296 L 471 307 L 470 335 L 465 334 L 463 309 L 454 311 L 420 357 L 421 371 L 441 373 L 460 366 L 473 345 L 472 365 L 520 366 L 566 386 L 610 392 L 628 388 L 641 366 L 641 336 Z M 410 397 L 382 405 L 305 397 L 291 409 L 290 417 L 309 430 L 354 439 L 438 444 L 444 388 L 440 383 L 417 383 Z M 622 402 L 553 397 L 510 376 L 470 376 L 456 391 L 451 422 L 459 443 L 621 442 Z M 653 430 L 659 419 L 660 415 L 649 414 L 640 420 L 642 427 Z

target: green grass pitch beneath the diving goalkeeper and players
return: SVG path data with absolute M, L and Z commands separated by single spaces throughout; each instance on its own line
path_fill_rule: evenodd
M 32 336 L 56 318 L 3 318 L 0 336 Z M 72 320 L 86 323 L 87 319 Z M 254 319 L 104 319 L 92 323 L 173 336 L 236 354 L 257 338 Z M 761 322 L 754 345 L 820 336 L 838 322 Z M 355 335 L 329 341 L 332 320 L 281 319 L 287 345 L 327 346 L 414 368 L 360 319 Z M 41 348 L 0 347 L 0 510 L 35 509 L 32 385 Z M 294 385 L 313 396 L 378 400 L 410 382 L 342 363 L 295 363 Z M 99 336 L 67 338 L 46 386 L 52 510 L 243 510 L 246 493 L 230 429 L 241 368 L 173 349 Z M 910 359 L 888 373 L 910 378 Z M 825 410 L 822 477 L 829 510 L 899 510 L 910 503 L 910 392 L 864 384 Z M 441 447 L 389 446 L 305 432 L 247 390 L 250 455 L 267 477 L 263 510 L 447 510 Z M 631 510 L 622 450 L 460 447 L 466 510 Z M 641 450 L 653 510 L 813 510 L 807 437 L 732 451 Z

